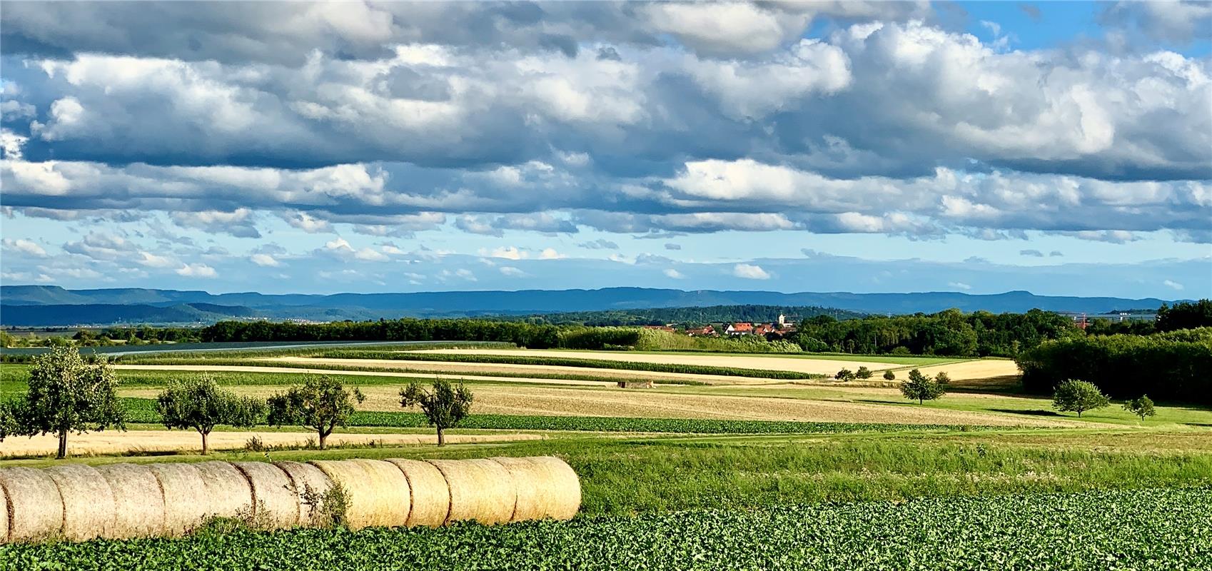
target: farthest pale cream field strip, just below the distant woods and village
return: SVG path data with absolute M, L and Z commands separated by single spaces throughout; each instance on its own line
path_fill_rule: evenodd
M 904 365 L 880 361 L 873 355 L 868 361 L 835 360 L 829 358 L 804 359 L 776 355 L 716 355 L 710 353 L 641 353 L 641 352 L 599 352 L 599 350 L 550 350 L 550 349 L 433 349 L 408 352 L 417 354 L 447 355 L 513 355 L 513 356 L 555 356 L 564 359 L 593 359 L 599 361 L 664 362 L 678 365 L 704 365 L 714 367 L 758 369 L 768 371 L 794 371 L 804 373 L 833 375 L 840 369 L 858 369 L 865 366 L 873 371 L 897 369 Z

